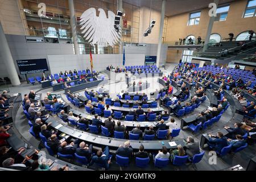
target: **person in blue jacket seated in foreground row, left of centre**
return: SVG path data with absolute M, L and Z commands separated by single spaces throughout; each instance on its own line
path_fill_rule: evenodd
M 106 170 L 109 169 L 110 156 L 109 156 L 108 146 L 105 147 L 103 152 L 102 150 L 97 151 L 97 154 L 92 157 L 92 160 L 89 163 L 89 166 L 92 166 L 94 163 L 104 165 Z

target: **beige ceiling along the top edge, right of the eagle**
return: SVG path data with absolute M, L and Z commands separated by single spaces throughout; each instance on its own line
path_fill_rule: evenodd
M 124 2 L 136 5 L 139 7 L 151 6 L 152 9 L 161 11 L 162 0 L 123 0 Z M 241 0 L 220 0 L 219 5 Z M 181 13 L 187 13 L 190 11 L 204 9 L 208 7 L 209 3 L 212 3 L 213 0 L 166 0 L 166 16 L 174 16 Z

